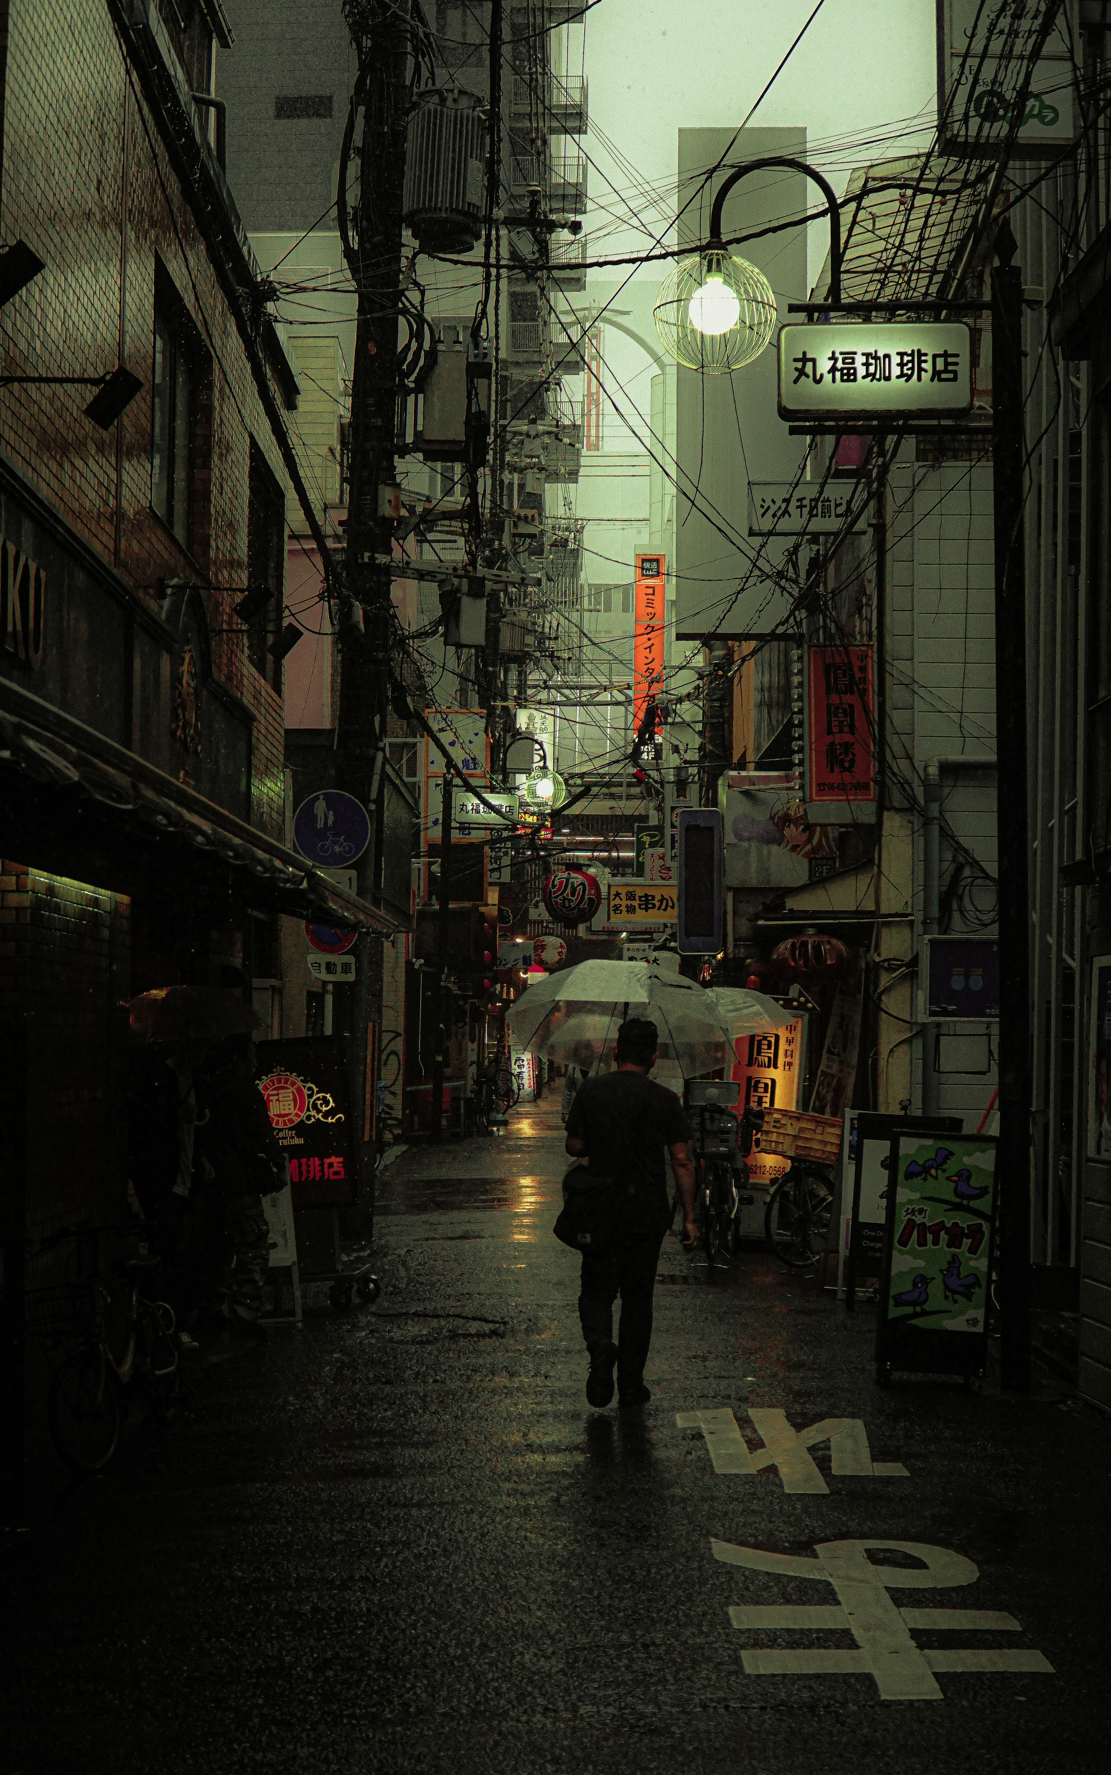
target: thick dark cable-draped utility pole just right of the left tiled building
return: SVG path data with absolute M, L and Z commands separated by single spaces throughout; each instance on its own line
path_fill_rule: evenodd
M 405 137 L 410 108 L 410 0 L 344 0 L 344 18 L 359 55 L 362 98 L 359 204 L 341 217 L 350 270 L 359 291 L 351 373 L 351 456 L 348 481 L 346 586 L 339 596 L 341 680 L 335 733 L 335 786 L 371 801 L 382 777 L 389 706 L 390 556 L 396 506 L 398 312 L 401 304 L 401 202 Z M 346 204 L 346 193 L 339 193 Z M 348 225 L 348 220 L 351 225 Z M 359 863 L 359 893 L 371 898 L 382 850 L 374 843 Z M 351 1104 L 366 1108 L 367 1026 L 380 1019 L 380 971 L 371 943 L 360 937 L 357 978 L 337 996 L 335 1033 L 346 1042 Z M 362 1122 L 362 1116 L 357 1116 Z M 366 1180 L 366 1172 L 364 1172 Z

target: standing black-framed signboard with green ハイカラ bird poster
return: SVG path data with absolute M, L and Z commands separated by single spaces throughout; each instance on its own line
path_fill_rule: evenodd
M 877 1379 L 893 1369 L 983 1376 L 996 1255 L 997 1140 L 891 1140 Z

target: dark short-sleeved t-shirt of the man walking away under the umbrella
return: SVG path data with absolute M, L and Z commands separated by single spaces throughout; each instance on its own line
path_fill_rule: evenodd
M 568 1115 L 568 1136 L 586 1141 L 591 1172 L 635 1186 L 637 1219 L 671 1219 L 664 1148 L 690 1140 L 687 1113 L 664 1085 L 644 1072 L 607 1072 L 586 1079 Z

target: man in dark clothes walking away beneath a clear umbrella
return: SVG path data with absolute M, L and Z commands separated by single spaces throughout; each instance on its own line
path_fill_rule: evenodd
M 591 1173 L 628 1187 L 618 1209 L 612 1241 L 602 1253 L 582 1253 L 579 1317 L 591 1356 L 586 1397 L 609 1406 L 614 1363 L 621 1406 L 642 1406 L 644 1363 L 651 1342 L 651 1303 L 664 1234 L 671 1225 L 667 1168 L 683 1205 L 683 1244 L 697 1241 L 694 1223 L 694 1166 L 687 1143 L 690 1127 L 674 1092 L 648 1074 L 657 1063 L 658 1031 L 644 1017 L 618 1030 L 616 1072 L 586 1079 L 568 1115 L 566 1150 L 586 1156 Z M 621 1337 L 614 1344 L 614 1299 L 621 1296 Z

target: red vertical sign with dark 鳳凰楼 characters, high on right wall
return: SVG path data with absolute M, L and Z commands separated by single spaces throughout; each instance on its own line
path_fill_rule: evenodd
M 811 648 L 808 712 L 806 799 L 875 801 L 871 648 Z

